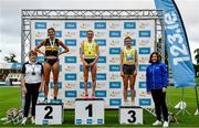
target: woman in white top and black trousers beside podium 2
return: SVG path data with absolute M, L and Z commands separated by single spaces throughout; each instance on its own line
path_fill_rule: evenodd
M 35 116 L 35 105 L 38 100 L 39 92 L 43 86 L 43 65 L 36 62 L 36 52 L 29 52 L 29 61 L 25 62 L 22 66 L 22 75 L 21 75 L 21 90 L 24 95 L 24 109 L 23 109 L 23 120 L 21 124 L 25 125 L 30 104 L 32 102 L 32 118 L 31 121 L 34 124 Z

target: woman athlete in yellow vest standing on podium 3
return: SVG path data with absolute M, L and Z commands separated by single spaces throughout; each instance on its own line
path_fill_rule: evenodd
M 137 75 L 137 51 L 132 47 L 132 39 L 125 38 L 125 47 L 121 52 L 121 76 L 123 77 L 124 90 L 123 98 L 124 104 L 129 105 L 127 100 L 127 89 L 130 87 L 130 105 L 135 105 L 135 81 Z

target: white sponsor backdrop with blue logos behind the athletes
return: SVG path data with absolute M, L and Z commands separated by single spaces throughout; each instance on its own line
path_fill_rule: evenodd
M 146 94 L 145 82 L 145 71 L 148 65 L 149 54 L 154 51 L 154 20 L 32 20 L 32 49 L 42 39 L 46 38 L 46 30 L 51 26 L 55 29 L 56 38 L 70 47 L 67 54 L 60 56 L 59 98 L 64 103 L 64 108 L 74 108 L 75 98 L 84 96 L 80 46 L 81 42 L 86 40 L 87 30 L 94 31 L 94 41 L 100 45 L 101 57 L 97 62 L 95 95 L 105 99 L 105 108 L 117 108 L 124 104 L 123 82 L 119 73 L 119 54 L 126 36 L 133 39 L 132 44 L 138 52 L 139 64 L 135 84 L 136 105 L 143 107 L 151 107 L 154 105 L 151 97 Z M 43 56 L 39 56 L 38 60 L 43 62 Z M 51 74 L 50 98 L 53 98 L 52 79 Z M 91 90 L 91 74 L 88 88 Z M 41 93 L 39 100 L 43 100 L 43 93 Z

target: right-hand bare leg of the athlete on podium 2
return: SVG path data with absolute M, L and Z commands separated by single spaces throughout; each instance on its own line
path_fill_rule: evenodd
M 53 83 L 54 83 L 54 98 L 57 97 L 57 93 L 59 93 L 59 72 L 60 72 L 60 65 L 59 62 L 55 62 L 52 66 L 53 70 Z

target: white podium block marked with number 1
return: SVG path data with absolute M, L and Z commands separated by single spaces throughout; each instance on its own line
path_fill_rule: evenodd
M 104 99 L 75 99 L 75 124 L 101 125 L 104 124 Z

